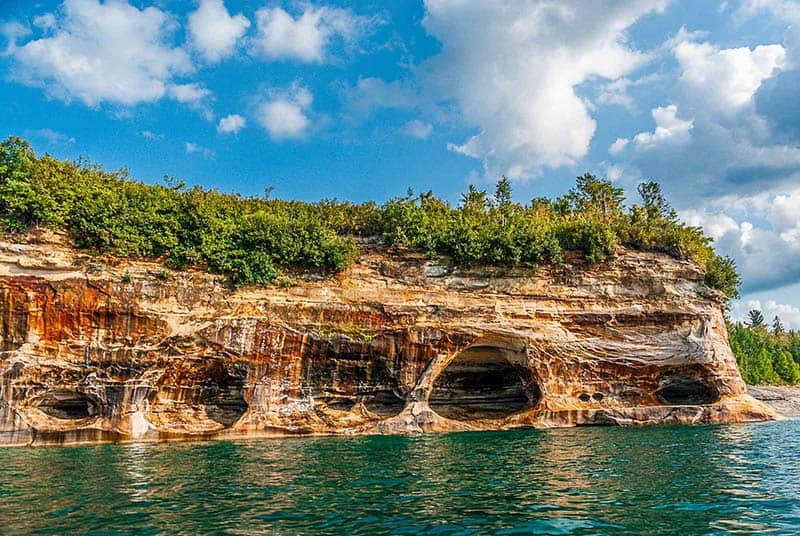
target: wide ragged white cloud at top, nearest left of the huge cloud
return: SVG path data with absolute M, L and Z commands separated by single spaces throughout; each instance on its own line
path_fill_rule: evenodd
M 294 18 L 280 7 L 264 7 L 256 11 L 253 51 L 270 60 L 323 63 L 335 39 L 352 44 L 368 23 L 349 9 L 306 6 Z

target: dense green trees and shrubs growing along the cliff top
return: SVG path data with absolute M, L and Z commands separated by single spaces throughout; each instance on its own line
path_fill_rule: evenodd
M 341 270 L 357 257 L 356 237 L 381 237 L 462 265 L 557 263 L 565 251 L 594 263 L 624 245 L 693 259 L 706 283 L 728 297 L 740 282 L 733 261 L 717 256 L 700 228 L 678 221 L 655 182 L 640 184 L 641 202 L 630 207 L 622 189 L 591 174 L 563 197 L 525 205 L 512 201 L 506 178 L 493 195 L 471 186 L 455 207 L 431 192 L 409 191 L 383 205 L 268 193 L 242 197 L 169 178 L 144 184 L 84 159 L 37 156 L 18 137 L 0 143 L 4 233 L 44 226 L 65 231 L 79 248 L 202 267 L 236 285 L 270 284 L 285 270 Z

